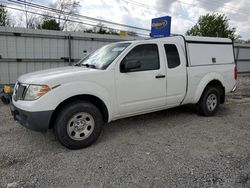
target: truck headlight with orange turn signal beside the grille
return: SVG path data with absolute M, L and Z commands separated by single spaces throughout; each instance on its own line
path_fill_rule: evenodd
M 24 100 L 26 101 L 36 100 L 41 96 L 43 96 L 44 94 L 46 94 L 47 92 L 49 92 L 49 90 L 50 90 L 49 86 L 46 85 L 29 85 Z

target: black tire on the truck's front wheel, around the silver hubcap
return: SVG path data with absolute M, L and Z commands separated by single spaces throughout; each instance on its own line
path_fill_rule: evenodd
M 86 121 L 92 121 L 92 122 L 94 121 L 94 126 L 93 128 L 91 128 L 92 130 L 91 132 L 89 132 L 88 137 L 84 138 L 85 133 L 81 133 L 84 135 L 83 138 L 75 138 L 76 134 L 78 134 L 78 137 L 81 137 L 79 136 L 81 134 L 79 134 L 80 133 L 79 130 L 77 131 L 75 130 L 76 128 L 79 129 L 79 127 L 76 127 L 77 123 L 73 122 L 75 122 L 74 120 L 78 118 L 77 115 L 81 113 L 87 114 L 86 116 L 89 116 L 87 117 L 88 119 L 91 117 L 91 120 L 85 120 L 85 117 L 84 118 L 81 117 L 79 119 L 79 121 L 84 119 L 83 121 L 85 122 L 85 125 L 81 125 L 82 126 L 81 131 L 83 131 L 83 129 L 85 131 L 86 129 L 88 129 L 86 128 L 86 126 L 88 126 Z M 73 125 L 71 125 L 72 123 Z M 63 146 L 69 149 L 81 149 L 93 144 L 97 140 L 97 138 L 101 134 L 103 124 L 104 121 L 102 114 L 95 105 L 87 101 L 75 101 L 66 105 L 64 108 L 60 110 L 60 112 L 57 115 L 57 119 L 55 121 L 54 132 L 55 136 Z M 73 129 L 71 133 L 69 129 L 70 130 Z M 82 139 L 82 140 L 75 140 L 75 139 Z

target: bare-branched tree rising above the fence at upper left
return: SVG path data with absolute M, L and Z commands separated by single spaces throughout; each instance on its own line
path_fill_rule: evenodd
M 67 30 L 67 24 L 73 14 L 77 14 L 80 8 L 80 2 L 75 0 L 56 0 L 51 4 L 52 8 L 57 9 L 57 23 L 61 30 Z

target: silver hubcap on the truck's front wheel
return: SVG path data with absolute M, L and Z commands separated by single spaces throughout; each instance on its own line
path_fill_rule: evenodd
M 86 112 L 75 114 L 67 124 L 67 133 L 73 140 L 88 138 L 95 127 L 94 118 Z

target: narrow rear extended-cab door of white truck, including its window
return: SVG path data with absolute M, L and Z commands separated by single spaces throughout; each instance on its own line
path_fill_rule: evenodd
M 167 106 L 179 105 L 187 88 L 185 51 L 178 44 L 163 44 L 167 62 Z

